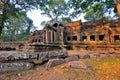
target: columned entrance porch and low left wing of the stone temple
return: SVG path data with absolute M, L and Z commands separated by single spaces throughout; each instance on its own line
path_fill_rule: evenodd
M 30 34 L 30 43 L 55 44 L 64 41 L 64 25 L 56 22 L 53 25 L 47 24 L 43 30 L 37 30 Z

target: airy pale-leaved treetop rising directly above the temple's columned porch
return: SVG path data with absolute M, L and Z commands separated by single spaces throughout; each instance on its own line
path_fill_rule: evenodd
M 64 0 L 42 0 L 40 10 L 42 11 L 42 15 L 48 16 L 51 19 L 47 23 L 62 21 L 69 14 L 69 8 Z M 44 21 L 42 24 L 45 23 Z

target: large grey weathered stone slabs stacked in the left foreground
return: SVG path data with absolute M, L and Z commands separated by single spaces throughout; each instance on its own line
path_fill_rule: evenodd
M 0 54 L 0 73 L 31 69 L 34 67 L 32 62 L 35 60 L 41 63 L 51 61 L 54 65 L 51 62 L 48 62 L 48 64 L 50 67 L 53 67 L 63 63 L 63 59 L 67 56 L 68 52 L 66 50 L 34 53 L 16 52 L 9 55 Z

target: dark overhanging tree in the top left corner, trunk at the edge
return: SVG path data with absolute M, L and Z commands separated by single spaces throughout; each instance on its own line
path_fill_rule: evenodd
M 8 14 L 25 12 L 38 7 L 39 0 L 0 0 L 0 34 Z

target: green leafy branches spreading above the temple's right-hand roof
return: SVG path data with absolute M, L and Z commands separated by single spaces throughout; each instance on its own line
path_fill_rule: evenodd
M 81 13 L 86 13 L 87 20 L 101 18 L 110 13 L 112 9 L 116 13 L 116 7 L 113 0 L 69 0 L 68 5 L 73 9 L 71 16 L 78 17 Z

